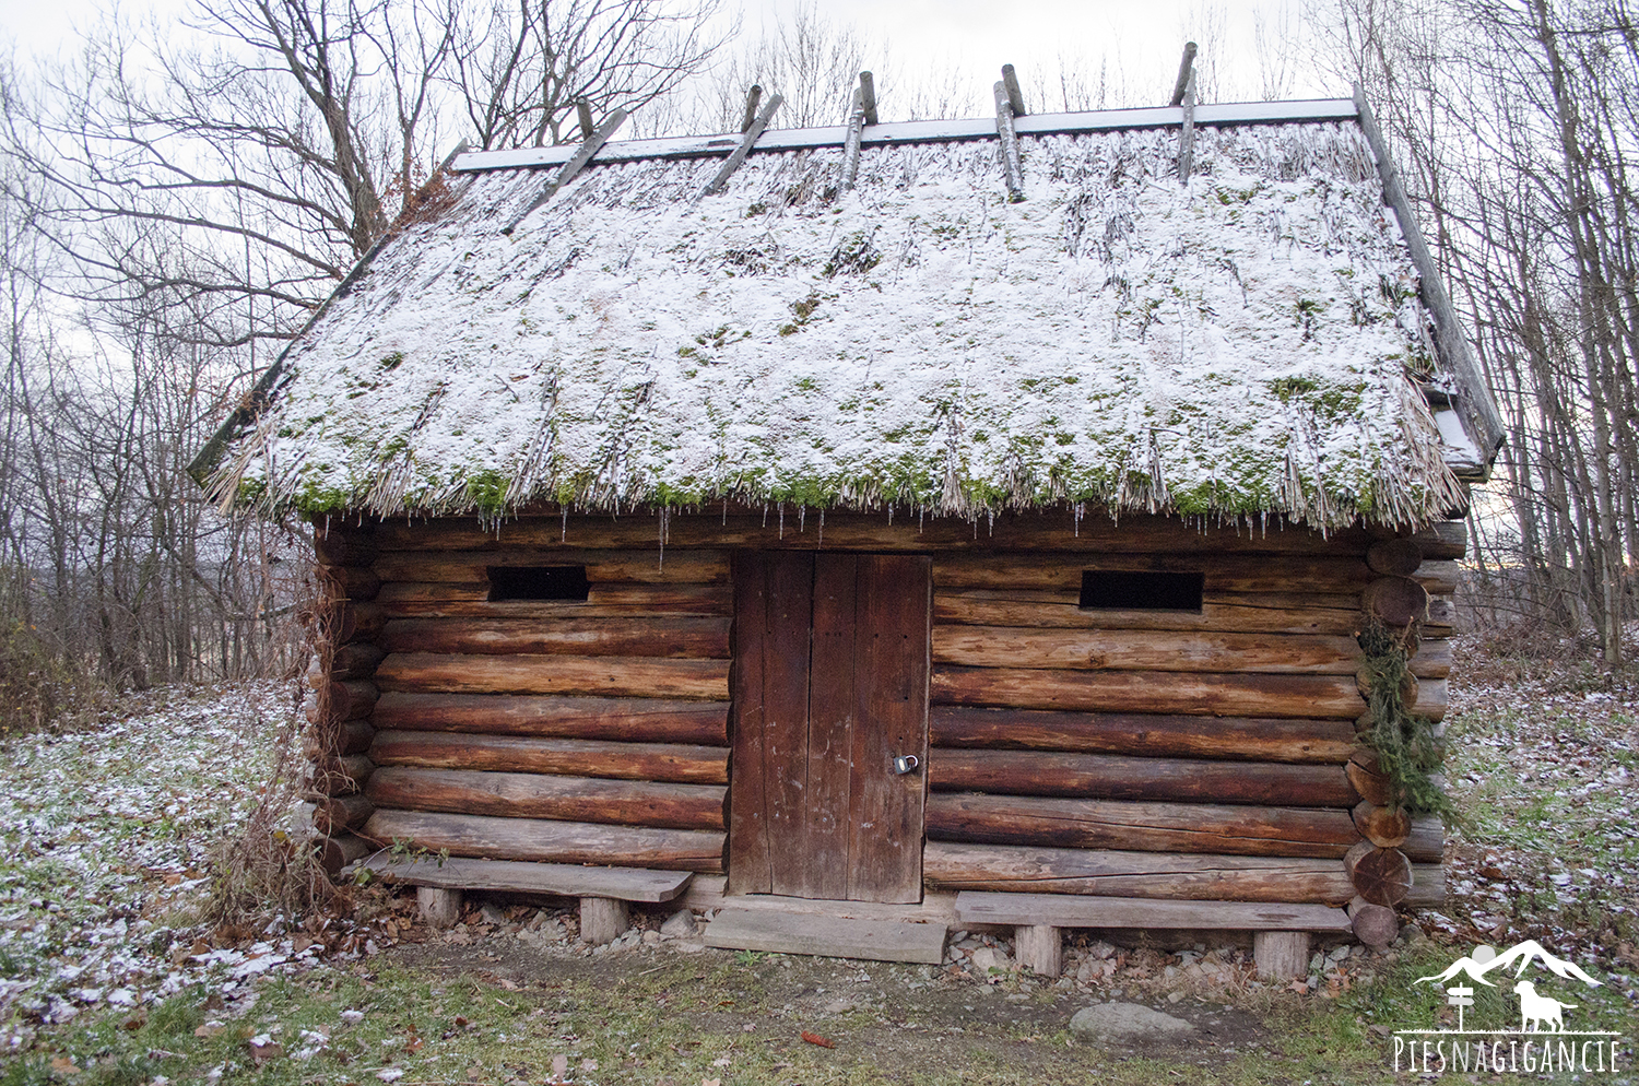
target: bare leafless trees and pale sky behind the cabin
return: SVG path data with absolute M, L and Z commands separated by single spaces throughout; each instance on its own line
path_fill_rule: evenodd
M 1639 555 L 1639 25 L 1631 0 L 1190 8 L 1206 102 L 1344 97 L 1388 131 L 1508 426 L 1477 495 L 1469 626 L 1632 657 Z M 305 667 L 300 523 L 210 506 L 187 462 L 441 159 L 580 138 L 988 113 L 813 3 L 220 0 L 0 59 L 0 734 L 113 691 Z M 1042 34 L 1051 41 L 1051 34 Z M 1018 57 L 1036 110 L 1160 105 L 1131 51 Z M 1044 49 L 1046 52 L 1046 49 Z M 1629 634 L 1631 636 L 1631 629 Z

